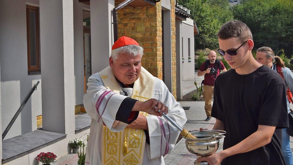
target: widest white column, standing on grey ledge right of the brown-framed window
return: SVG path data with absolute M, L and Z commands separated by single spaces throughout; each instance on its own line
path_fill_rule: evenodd
M 74 134 L 73 1 L 40 1 L 43 130 Z

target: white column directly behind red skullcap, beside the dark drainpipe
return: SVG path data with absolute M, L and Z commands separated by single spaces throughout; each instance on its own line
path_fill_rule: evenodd
M 91 0 L 91 63 L 92 73 L 109 66 L 113 45 L 112 11 L 114 0 Z

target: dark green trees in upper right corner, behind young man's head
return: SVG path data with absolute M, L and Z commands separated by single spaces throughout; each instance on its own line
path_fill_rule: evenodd
M 293 42 L 292 0 L 246 0 L 232 8 L 234 18 L 246 23 L 255 41 Z M 281 49 L 277 42 L 265 46 Z M 256 49 L 258 47 L 255 47 Z

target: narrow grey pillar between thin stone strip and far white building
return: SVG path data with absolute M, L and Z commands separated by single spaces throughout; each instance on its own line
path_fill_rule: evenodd
M 182 21 L 176 20 L 176 96 L 177 98 L 183 98 L 182 91 Z

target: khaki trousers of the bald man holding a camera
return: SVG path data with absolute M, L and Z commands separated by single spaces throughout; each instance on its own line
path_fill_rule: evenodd
M 203 85 L 202 96 L 205 99 L 205 113 L 207 117 L 212 117 L 212 95 L 214 93 L 214 86 Z

